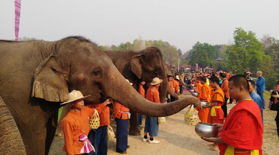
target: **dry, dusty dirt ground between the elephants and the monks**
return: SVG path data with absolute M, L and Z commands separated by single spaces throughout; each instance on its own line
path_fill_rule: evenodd
M 190 95 L 189 92 L 183 93 L 181 97 Z M 266 103 L 269 102 L 268 94 L 266 96 Z M 228 111 L 235 104 L 228 105 Z M 127 149 L 127 154 L 219 154 L 219 151 L 210 151 L 208 142 L 203 141 L 195 133 L 195 126 L 187 126 L 184 124 L 184 114 L 188 107 L 179 113 L 166 117 L 166 123 L 159 125 L 158 136 L 155 139 L 161 141 L 159 144 L 149 144 L 143 142 L 143 130 L 140 136 L 128 137 L 128 145 L 131 147 Z M 266 111 L 264 114 L 264 135 L 263 135 L 263 154 L 279 154 L 279 139 L 276 133 L 276 124 L 274 118 L 276 112 L 268 109 L 266 104 Z M 144 126 L 145 120 L 143 120 Z M 111 121 L 111 126 L 116 130 L 115 121 Z M 149 136 L 148 136 L 149 137 Z M 54 137 L 52 146 L 50 148 L 50 155 L 66 154 L 61 149 L 64 145 L 62 137 Z M 116 139 L 109 140 L 108 154 L 116 153 Z

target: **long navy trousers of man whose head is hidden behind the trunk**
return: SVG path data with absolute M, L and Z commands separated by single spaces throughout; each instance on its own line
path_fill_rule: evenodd
M 122 120 L 115 118 L 116 121 L 116 151 L 124 152 L 128 146 L 128 119 Z

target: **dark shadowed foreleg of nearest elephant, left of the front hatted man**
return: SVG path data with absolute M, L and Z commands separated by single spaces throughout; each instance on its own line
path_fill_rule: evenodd
M 58 120 L 58 109 L 54 111 L 53 117 L 47 122 L 47 138 L 45 139 L 45 155 L 49 154 L 50 145 L 53 141 Z

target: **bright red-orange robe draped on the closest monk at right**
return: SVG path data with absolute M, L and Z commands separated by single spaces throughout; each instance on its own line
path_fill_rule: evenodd
M 259 150 L 259 154 L 262 154 L 263 123 L 261 110 L 256 102 L 243 100 L 230 110 L 223 125 L 221 138 L 226 144 L 218 144 L 220 155 L 225 153 L 227 145 L 240 149 Z

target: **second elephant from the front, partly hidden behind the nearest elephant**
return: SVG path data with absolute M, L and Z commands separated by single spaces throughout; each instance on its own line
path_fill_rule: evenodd
M 141 81 L 145 81 L 144 85 L 145 89 L 150 87 L 148 83 L 152 82 L 154 77 L 159 77 L 163 80 L 160 84 L 159 92 L 160 92 L 160 102 L 165 102 L 165 97 L 167 90 L 170 94 L 175 94 L 168 84 L 164 62 L 162 53 L 156 47 L 146 48 L 141 51 L 133 51 L 133 50 L 118 50 L 118 51 L 104 51 L 110 59 L 112 59 L 113 64 L 116 66 L 118 71 L 131 83 L 133 83 L 133 87 L 138 91 L 139 84 Z M 169 89 L 167 89 L 169 87 Z M 177 99 L 179 99 L 178 95 L 175 94 Z M 57 125 L 56 135 L 62 136 L 62 128 L 61 121 L 66 116 L 70 109 L 70 105 L 64 106 L 63 111 L 61 113 L 60 120 Z M 130 110 L 131 118 L 129 135 L 140 135 L 141 131 L 137 127 L 138 117 L 133 110 Z

